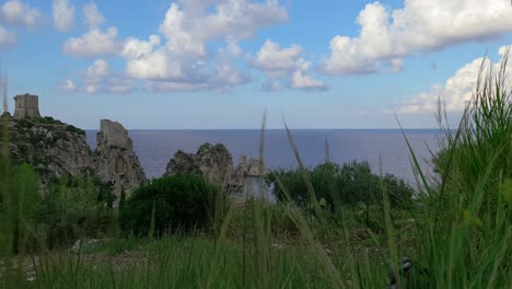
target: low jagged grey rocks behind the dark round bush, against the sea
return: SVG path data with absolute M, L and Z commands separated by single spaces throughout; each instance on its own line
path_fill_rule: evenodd
M 259 159 L 245 155 L 236 169 L 233 158 L 228 149 L 221 144 L 205 143 L 196 153 L 186 153 L 178 150 L 167 163 L 165 175 L 194 174 L 203 176 L 211 183 L 221 185 L 226 192 L 240 192 L 244 187 L 247 176 L 263 176 L 266 174 Z

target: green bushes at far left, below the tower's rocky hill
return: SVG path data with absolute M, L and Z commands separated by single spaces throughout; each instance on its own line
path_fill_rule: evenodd
M 63 247 L 79 238 L 100 238 L 116 228 L 114 211 L 108 208 L 113 195 L 93 178 L 55 178 L 48 192 L 40 194 L 34 167 L 21 164 L 13 167 L 7 185 L 15 194 L 0 194 L 0 216 L 12 232 L 4 238 L 13 252 Z

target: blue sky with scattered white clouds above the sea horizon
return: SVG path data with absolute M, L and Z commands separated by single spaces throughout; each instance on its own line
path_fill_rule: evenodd
M 512 44 L 509 0 L 0 3 L 9 95 L 82 128 L 429 128 Z

